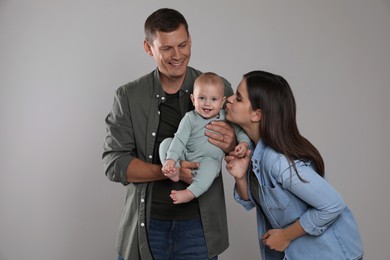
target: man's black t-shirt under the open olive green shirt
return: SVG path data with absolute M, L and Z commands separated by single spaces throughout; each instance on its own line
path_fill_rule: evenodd
M 181 120 L 179 106 L 179 92 L 165 94 L 165 102 L 160 105 L 160 124 L 157 131 L 156 143 L 154 146 L 154 162 L 161 164 L 159 147 L 161 142 L 168 137 L 173 137 Z M 169 196 L 171 190 L 184 190 L 187 183 L 170 179 L 156 181 L 153 184 L 151 217 L 162 220 L 187 220 L 199 218 L 198 200 L 195 198 L 190 202 L 173 204 Z

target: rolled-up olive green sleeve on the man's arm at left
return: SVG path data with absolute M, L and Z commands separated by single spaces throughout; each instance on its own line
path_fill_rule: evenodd
M 111 112 L 106 120 L 103 146 L 103 166 L 106 176 L 127 185 L 127 167 L 135 155 L 133 126 L 126 89 L 119 88 L 114 95 Z

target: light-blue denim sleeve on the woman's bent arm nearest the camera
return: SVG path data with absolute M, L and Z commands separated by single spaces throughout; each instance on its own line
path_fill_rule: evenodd
M 284 157 L 278 161 L 274 165 L 276 169 L 272 171 L 280 173 L 274 176 L 277 182 L 308 204 L 307 211 L 300 217 L 303 229 L 308 234 L 321 235 L 344 210 L 342 197 L 325 178 L 314 171 L 310 163 L 295 162 L 302 181 Z

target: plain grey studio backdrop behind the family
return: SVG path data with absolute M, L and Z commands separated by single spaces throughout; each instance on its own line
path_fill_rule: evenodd
M 115 259 L 125 188 L 103 173 L 114 90 L 153 70 L 143 23 L 181 11 L 190 65 L 232 82 L 283 75 L 303 135 L 354 212 L 368 260 L 389 260 L 390 2 L 0 0 L 0 259 Z M 255 212 L 232 199 L 222 260 L 259 259 Z

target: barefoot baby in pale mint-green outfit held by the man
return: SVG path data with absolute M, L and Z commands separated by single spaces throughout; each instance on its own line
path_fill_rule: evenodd
M 195 109 L 186 113 L 175 136 L 165 139 L 159 150 L 162 172 L 172 181 L 179 181 L 180 159 L 199 162 L 200 165 L 193 170 L 192 183 L 187 189 L 171 191 L 174 204 L 189 202 L 207 191 L 220 173 L 225 155 L 222 149 L 209 143 L 204 134 L 207 124 L 225 120 L 222 107 L 226 97 L 222 78 L 212 72 L 200 75 L 195 80 L 191 100 Z M 237 156 L 243 157 L 249 148 L 250 139 L 242 129 L 234 127 L 239 142 L 235 152 Z

